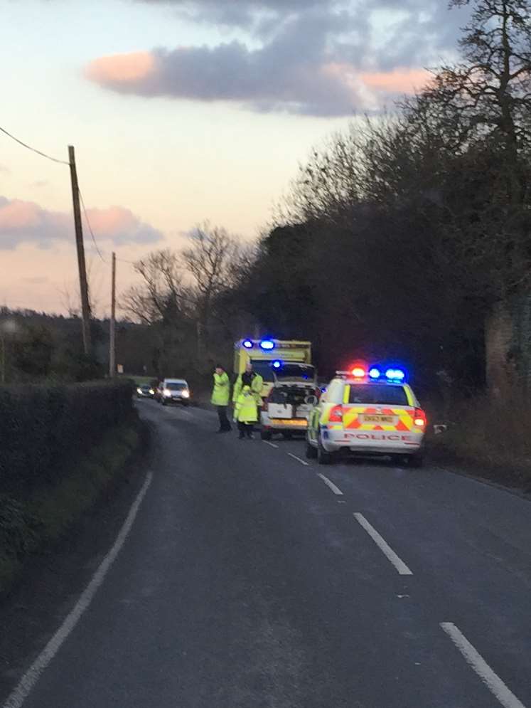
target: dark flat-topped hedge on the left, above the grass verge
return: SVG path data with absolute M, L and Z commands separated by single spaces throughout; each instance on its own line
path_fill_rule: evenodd
M 0 492 L 55 485 L 134 416 L 130 381 L 0 387 Z

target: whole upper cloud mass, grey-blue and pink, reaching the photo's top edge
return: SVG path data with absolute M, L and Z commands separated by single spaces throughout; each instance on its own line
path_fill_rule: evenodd
M 172 4 L 238 38 L 100 57 L 87 78 L 122 94 L 299 115 L 377 110 L 422 88 L 424 67 L 456 48 L 463 23 L 441 0 L 137 1 Z

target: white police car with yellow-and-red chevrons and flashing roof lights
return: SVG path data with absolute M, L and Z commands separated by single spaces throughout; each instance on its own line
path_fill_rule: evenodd
M 330 464 L 338 453 L 390 455 L 422 466 L 426 414 L 396 366 L 338 371 L 309 415 L 306 457 Z

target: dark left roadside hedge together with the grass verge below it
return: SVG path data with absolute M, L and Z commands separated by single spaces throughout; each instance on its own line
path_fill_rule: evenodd
M 60 538 L 139 444 L 129 381 L 0 388 L 0 593 Z

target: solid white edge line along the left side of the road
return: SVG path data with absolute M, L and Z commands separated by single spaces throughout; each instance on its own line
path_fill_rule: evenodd
M 102 560 L 97 571 L 92 576 L 92 580 L 82 592 L 79 600 L 75 604 L 75 607 L 70 611 L 70 613 L 68 613 L 67 617 L 63 621 L 63 624 L 60 625 L 60 628 L 55 632 L 48 644 L 33 662 L 31 667 L 29 667 L 29 669 L 23 675 L 16 689 L 14 689 L 9 698 L 4 703 L 3 708 L 21 708 L 23 702 L 26 700 L 28 695 L 31 693 L 31 690 L 38 682 L 38 679 L 41 676 L 42 672 L 45 670 L 50 661 L 60 650 L 61 645 L 63 644 L 65 639 L 68 638 L 68 635 L 70 635 L 70 633 L 73 631 L 75 625 L 77 625 L 77 623 L 79 622 L 82 614 L 90 606 L 90 603 L 92 602 L 92 599 L 97 593 L 98 588 L 100 588 L 101 584 L 103 583 L 107 572 L 114 563 L 114 560 L 121 551 L 122 546 L 124 545 L 127 536 L 131 531 L 140 504 L 142 503 L 142 500 L 144 499 L 144 496 L 146 495 L 146 492 L 149 489 L 149 485 L 151 485 L 152 479 L 153 472 L 148 472 L 146 475 L 146 481 L 144 482 L 144 485 L 142 486 L 138 495 L 136 495 L 136 499 L 134 500 L 131 509 L 129 509 L 129 514 L 127 514 L 127 519 L 125 519 L 124 524 L 117 536 L 117 539 L 116 541 L 114 541 L 114 544 L 110 549 L 109 553 Z

